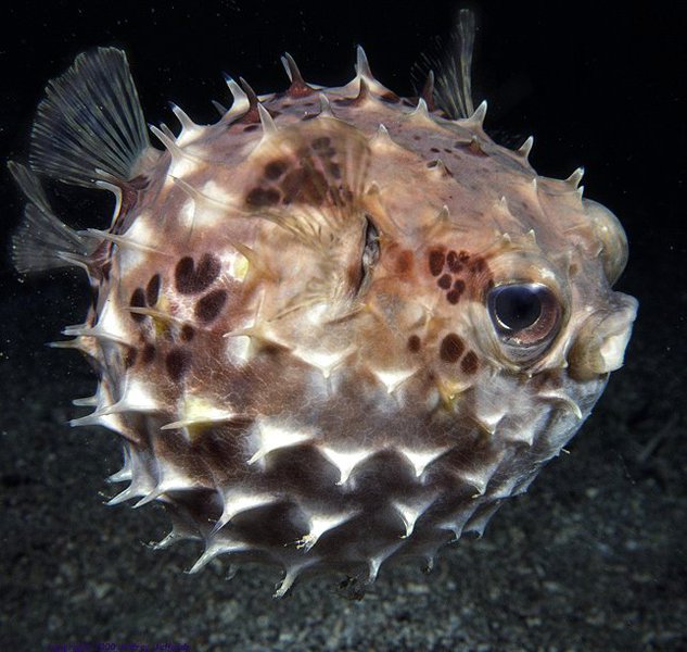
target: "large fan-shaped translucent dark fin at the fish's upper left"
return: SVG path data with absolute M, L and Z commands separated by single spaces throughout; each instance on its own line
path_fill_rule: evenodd
M 136 175 L 149 147 L 126 54 L 98 48 L 79 54 L 48 84 L 34 122 L 29 160 L 36 172 L 68 184 L 122 185 Z

